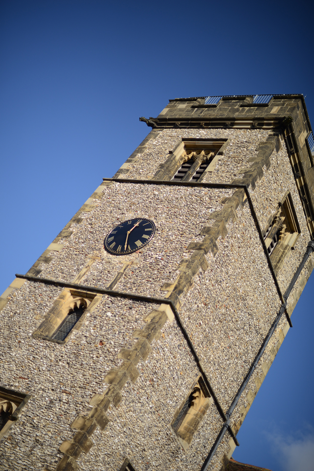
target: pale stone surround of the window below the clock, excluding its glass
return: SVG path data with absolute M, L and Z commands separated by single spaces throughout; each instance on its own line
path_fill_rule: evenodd
M 48 340 L 56 343 L 64 344 L 69 341 L 73 332 L 80 330 L 86 316 L 91 312 L 99 302 L 100 297 L 93 292 L 77 291 L 71 288 L 64 288 L 59 296 L 54 300 L 52 307 L 44 316 L 44 320 L 40 323 L 38 328 L 32 333 L 32 337 Z M 64 318 L 68 315 L 69 311 L 75 304 L 83 303 L 86 306 L 85 311 L 80 319 L 73 326 L 72 330 L 68 333 L 64 340 L 55 340 L 55 335 L 58 328 L 62 325 Z

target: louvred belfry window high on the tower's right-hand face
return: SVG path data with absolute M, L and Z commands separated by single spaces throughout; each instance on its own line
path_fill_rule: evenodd
M 280 203 L 274 218 L 266 227 L 264 240 L 274 268 L 278 272 L 287 251 L 293 248 L 300 234 L 298 219 L 290 194 Z M 280 262 L 280 263 L 279 263 Z

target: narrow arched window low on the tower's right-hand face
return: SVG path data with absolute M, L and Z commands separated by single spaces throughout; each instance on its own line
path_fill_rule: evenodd
M 192 391 L 175 414 L 171 424 L 185 450 L 191 443 L 193 435 L 211 403 L 212 399 L 205 383 L 199 377 L 198 381 L 194 383 Z

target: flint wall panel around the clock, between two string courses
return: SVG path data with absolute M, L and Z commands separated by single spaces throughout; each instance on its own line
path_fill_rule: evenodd
M 54 252 L 48 264 L 39 266 L 41 277 L 73 282 L 88 257 L 96 256 L 81 284 L 105 288 L 123 265 L 129 264 L 114 289 L 159 297 L 161 284 L 177 276 L 177 264 L 188 244 L 202 240 L 199 234 L 210 214 L 222 209 L 221 199 L 234 192 L 132 183 L 112 183 L 103 188 L 95 209 L 83 213 L 81 224 L 72 224 L 72 235 L 60 240 L 64 248 Z M 121 221 L 137 217 L 156 224 L 150 243 L 128 256 L 106 252 L 105 235 Z

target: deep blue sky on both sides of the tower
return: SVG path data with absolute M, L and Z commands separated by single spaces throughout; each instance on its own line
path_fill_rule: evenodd
M 0 1 L 0 292 L 145 138 L 169 98 L 303 93 L 314 122 L 306 1 Z M 312 471 L 310 278 L 233 457 Z

